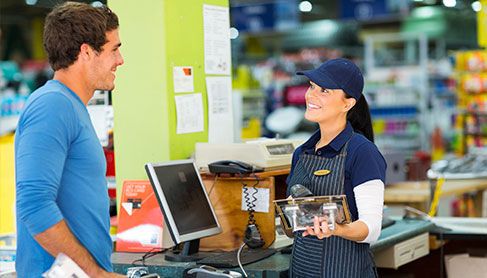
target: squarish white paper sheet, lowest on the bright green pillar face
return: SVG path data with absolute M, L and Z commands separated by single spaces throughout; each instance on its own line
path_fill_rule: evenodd
M 176 133 L 200 132 L 204 129 L 203 98 L 201 94 L 175 96 Z

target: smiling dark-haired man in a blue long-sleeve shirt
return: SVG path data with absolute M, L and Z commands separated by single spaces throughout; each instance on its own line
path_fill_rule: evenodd
M 19 277 L 40 277 L 64 253 L 91 277 L 112 271 L 106 163 L 86 104 L 113 90 L 123 64 L 118 18 L 66 2 L 46 17 L 53 80 L 36 90 L 15 138 Z

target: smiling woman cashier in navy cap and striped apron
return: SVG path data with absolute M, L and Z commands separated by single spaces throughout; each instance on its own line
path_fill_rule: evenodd
M 290 276 L 376 277 L 370 243 L 381 231 L 386 163 L 373 143 L 364 78 L 347 59 L 297 74 L 309 79 L 305 118 L 319 130 L 294 152 L 288 189 L 301 184 L 316 196 L 345 194 L 352 223 L 329 230 L 315 218 L 298 232 Z

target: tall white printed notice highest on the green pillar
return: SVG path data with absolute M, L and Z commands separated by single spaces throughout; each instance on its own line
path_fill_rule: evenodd
M 205 73 L 230 75 L 230 15 L 226 7 L 203 5 Z

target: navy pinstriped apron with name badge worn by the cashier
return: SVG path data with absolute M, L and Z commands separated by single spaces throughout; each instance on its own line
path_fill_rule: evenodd
M 302 153 L 294 166 L 289 185 L 302 184 L 315 196 L 345 194 L 348 142 L 333 158 Z M 323 169 L 331 170 L 330 174 L 313 174 Z M 357 243 L 338 236 L 324 239 L 309 235 L 303 237 L 302 232 L 295 233 L 289 274 L 290 277 L 319 278 L 377 277 L 368 243 Z

